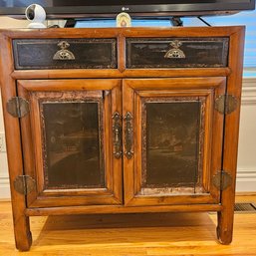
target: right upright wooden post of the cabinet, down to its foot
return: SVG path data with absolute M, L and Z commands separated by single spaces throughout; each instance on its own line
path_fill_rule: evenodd
M 227 80 L 227 94 L 234 96 L 238 105 L 234 112 L 225 116 L 224 146 L 223 146 L 223 170 L 232 177 L 231 186 L 222 191 L 221 203 L 224 210 L 218 214 L 217 234 L 223 244 L 232 241 L 236 165 L 238 149 L 239 116 L 242 89 L 243 52 L 244 52 L 244 28 L 237 28 L 236 33 L 230 37 L 229 66 L 232 73 Z

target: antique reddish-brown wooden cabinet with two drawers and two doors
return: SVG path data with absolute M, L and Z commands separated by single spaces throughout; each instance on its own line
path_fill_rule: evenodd
M 232 240 L 243 27 L 1 31 L 16 246 L 29 217 L 217 211 Z

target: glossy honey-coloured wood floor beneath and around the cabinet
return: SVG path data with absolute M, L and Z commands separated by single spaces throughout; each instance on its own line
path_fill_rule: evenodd
M 238 196 L 254 201 L 256 195 Z M 10 202 L 0 202 L 0 255 L 256 255 L 256 214 L 235 214 L 234 239 L 220 245 L 216 213 L 31 217 L 30 252 L 15 249 Z

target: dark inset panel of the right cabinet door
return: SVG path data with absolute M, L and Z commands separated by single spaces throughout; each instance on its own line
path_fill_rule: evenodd
M 205 104 L 185 97 L 150 100 L 142 105 L 141 187 L 148 192 L 165 187 L 199 189 Z

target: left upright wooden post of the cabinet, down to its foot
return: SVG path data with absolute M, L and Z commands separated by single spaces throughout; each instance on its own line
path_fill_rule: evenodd
M 13 71 L 12 49 L 9 38 L 1 35 L 1 92 L 6 132 L 6 144 L 8 153 L 9 177 L 12 197 L 14 234 L 16 247 L 21 251 L 30 248 L 32 238 L 29 227 L 29 218 L 25 215 L 26 196 L 17 192 L 14 188 L 14 180 L 23 175 L 22 146 L 20 140 L 20 124 L 17 118 L 7 113 L 6 104 L 12 97 L 17 96 L 15 81 L 10 74 Z

